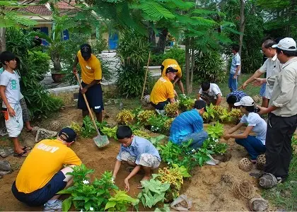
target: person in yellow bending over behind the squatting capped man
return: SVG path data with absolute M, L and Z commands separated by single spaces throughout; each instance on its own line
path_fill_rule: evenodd
M 180 65 L 177 63 L 175 59 L 165 59 L 161 65 L 162 76 L 165 76 L 164 70 L 167 69 L 168 67 L 173 67 L 173 69 L 177 70 L 176 76 L 173 81 L 173 86 L 175 86 L 175 83 L 177 83 L 178 87 L 180 88 L 180 91 L 182 91 L 182 94 L 185 94 L 184 85 L 182 84 L 182 81 L 181 81 L 182 69 L 180 69 Z

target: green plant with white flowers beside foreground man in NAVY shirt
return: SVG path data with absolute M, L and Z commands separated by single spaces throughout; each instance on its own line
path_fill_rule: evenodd
M 70 194 L 69 198 L 63 201 L 63 211 L 69 211 L 72 204 L 78 211 L 104 211 L 111 198 L 110 192 L 118 188 L 112 180 L 111 172 L 104 172 L 100 179 L 90 182 L 88 175 L 93 171 L 81 165 L 74 167 L 74 171 L 67 174 L 74 177 L 74 184 L 58 192 Z

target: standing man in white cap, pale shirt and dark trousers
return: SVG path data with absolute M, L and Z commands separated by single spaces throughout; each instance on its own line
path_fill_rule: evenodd
M 274 85 L 269 107 L 259 107 L 259 114 L 268 113 L 264 172 L 284 181 L 289 175 L 291 139 L 297 128 L 296 42 L 286 37 L 272 47 L 282 64 L 281 72 L 267 79 L 256 78 L 259 85 Z

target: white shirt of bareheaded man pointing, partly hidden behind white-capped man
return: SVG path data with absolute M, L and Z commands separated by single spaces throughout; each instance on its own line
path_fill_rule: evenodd
M 269 78 L 269 76 L 279 75 L 281 72 L 281 63 L 279 59 L 277 59 L 276 54 L 272 58 L 268 58 L 264 64 L 259 69 L 261 73 L 266 72 L 266 78 Z M 272 90 L 273 86 L 266 86 L 265 90 L 265 97 L 267 99 L 270 99 L 272 97 Z

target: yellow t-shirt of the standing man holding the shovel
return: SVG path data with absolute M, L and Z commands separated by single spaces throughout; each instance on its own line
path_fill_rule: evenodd
M 84 83 L 90 84 L 93 80 L 102 79 L 101 63 L 95 55 L 91 54 L 91 58 L 86 61 L 81 56 L 81 51 L 78 51 L 77 57 L 81 66 L 81 78 Z

